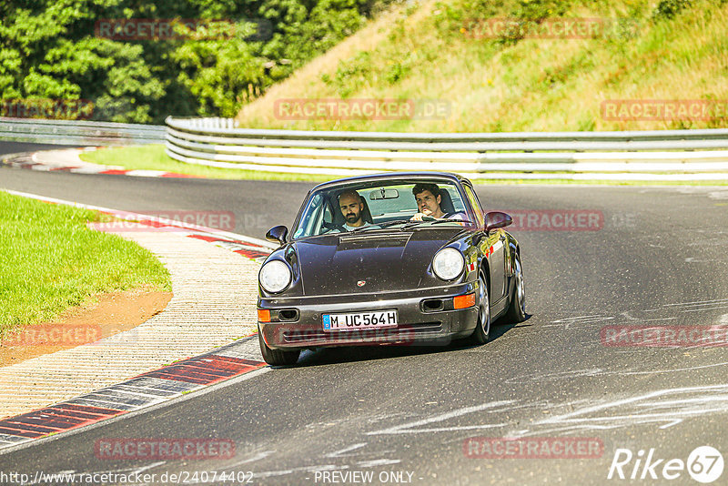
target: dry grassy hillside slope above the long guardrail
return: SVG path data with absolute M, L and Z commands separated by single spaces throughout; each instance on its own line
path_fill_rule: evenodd
M 489 19 L 503 18 L 530 19 L 541 31 L 519 38 L 489 30 Z M 542 38 L 561 18 L 603 28 Z M 399 5 L 244 106 L 238 120 L 243 127 L 425 132 L 728 127 L 725 25 L 726 0 Z M 281 100 L 324 98 L 430 100 L 447 109 L 399 119 L 281 115 Z M 614 100 L 641 100 L 641 111 L 615 108 Z M 667 116 L 649 106 L 671 109 L 674 100 L 685 103 Z M 703 100 L 701 113 L 682 111 L 691 100 Z

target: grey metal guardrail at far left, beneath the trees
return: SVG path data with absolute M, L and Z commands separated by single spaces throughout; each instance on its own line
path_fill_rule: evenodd
M 78 120 L 0 117 L 0 140 L 69 146 L 161 144 L 165 127 Z

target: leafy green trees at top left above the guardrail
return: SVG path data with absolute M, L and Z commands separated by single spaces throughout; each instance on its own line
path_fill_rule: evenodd
M 5 0 L 0 99 L 90 100 L 94 119 L 119 122 L 235 116 L 389 1 Z M 177 37 L 109 38 L 109 19 L 177 19 Z

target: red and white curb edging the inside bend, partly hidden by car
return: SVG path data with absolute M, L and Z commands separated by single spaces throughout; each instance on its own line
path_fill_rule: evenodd
M 5 190 L 5 192 L 51 204 L 93 209 L 115 218 L 147 225 L 150 230 L 183 231 L 187 238 L 201 239 L 247 258 L 266 258 L 274 248 L 267 241 L 215 228 L 19 191 Z M 104 229 L 103 224 L 99 229 Z M 111 419 L 130 411 L 152 407 L 190 391 L 201 390 L 221 381 L 262 369 L 266 363 L 260 355 L 256 336 L 239 339 L 203 355 L 184 359 L 158 370 L 147 371 L 131 380 L 61 401 L 50 407 L 0 420 L 0 451 L 31 440 Z

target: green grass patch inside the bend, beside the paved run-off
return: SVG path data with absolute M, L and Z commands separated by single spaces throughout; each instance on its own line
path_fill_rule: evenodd
M 99 293 L 171 290 L 167 268 L 147 249 L 86 228 L 102 218 L 0 191 L 0 339 Z

